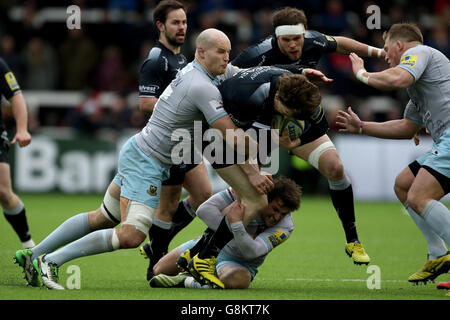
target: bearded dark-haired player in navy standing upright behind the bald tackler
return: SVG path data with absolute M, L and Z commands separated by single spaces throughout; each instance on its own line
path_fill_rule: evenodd
M 162 1 L 155 8 L 153 21 L 160 35 L 142 64 L 139 79 L 139 108 L 152 113 L 159 96 L 186 66 L 186 57 L 180 53 L 187 29 L 186 13 L 178 1 Z M 189 197 L 180 201 L 182 187 Z M 168 251 L 173 237 L 195 217 L 195 210 L 211 194 L 211 183 L 202 163 L 174 165 L 170 178 L 162 183 L 161 198 L 149 231 L 150 241 L 140 250 L 150 259 L 147 279 L 153 277 L 153 266 Z

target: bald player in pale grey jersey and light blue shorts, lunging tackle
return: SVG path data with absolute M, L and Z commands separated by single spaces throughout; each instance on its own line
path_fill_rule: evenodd
M 228 37 L 216 29 L 203 31 L 196 41 L 195 60 L 188 64 L 159 97 L 146 127 L 131 137 L 119 155 L 118 173 L 105 194 L 101 207 L 76 215 L 56 230 L 32 251 L 19 250 L 16 256 L 31 259 L 40 281 L 50 289 L 63 290 L 58 284 L 58 268 L 67 261 L 118 249 L 136 248 L 147 234 L 158 207 L 161 182 L 168 178 L 173 164 L 172 133 L 184 129 L 194 136 L 194 121 L 206 121 L 222 132 L 227 129 L 242 133 L 248 151 L 257 150 L 256 142 L 243 134 L 223 109 L 217 88 L 219 75 L 232 76 L 238 69 L 228 65 L 231 44 Z M 242 141 L 234 137 L 230 143 Z M 228 142 L 228 141 L 227 141 Z M 192 143 L 190 140 L 189 143 Z M 187 148 L 191 150 L 190 146 Z M 201 159 L 200 159 L 201 160 Z M 252 202 L 267 205 L 265 193 L 273 188 L 271 177 L 261 175 L 257 164 L 243 164 L 247 188 L 255 189 Z M 245 172 L 245 173 L 244 173 Z M 261 192 L 261 193 L 259 193 Z M 114 228 L 122 222 L 121 226 Z M 99 230 L 101 229 L 101 230 Z M 66 245 L 68 244 L 68 245 Z M 61 246 L 64 246 L 61 249 Z M 56 250 L 58 249 L 58 250 Z M 56 251 L 55 251 L 56 250 Z M 32 268 L 24 268 L 35 279 Z

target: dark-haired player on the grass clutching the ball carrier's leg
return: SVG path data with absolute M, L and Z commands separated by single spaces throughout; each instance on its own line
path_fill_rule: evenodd
M 247 289 L 273 248 L 285 242 L 294 229 L 291 211 L 300 207 L 301 188 L 292 180 L 280 177 L 268 194 L 268 205 L 258 217 L 244 227 L 244 208 L 236 201 L 231 188 L 215 194 L 197 210 L 209 229 L 216 230 L 223 215 L 227 217 L 234 239 L 220 251 L 216 272 L 226 289 Z M 173 249 L 155 265 L 151 287 L 210 288 L 196 282 L 188 273 L 180 273 L 176 264 L 181 253 L 201 240 L 191 240 Z

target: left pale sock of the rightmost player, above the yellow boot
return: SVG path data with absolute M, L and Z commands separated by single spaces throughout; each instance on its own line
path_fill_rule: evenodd
M 408 202 L 405 202 L 403 205 L 425 237 L 425 241 L 428 245 L 428 259 L 434 260 L 446 254 L 447 247 L 445 246 L 444 240 L 442 240 L 442 238 L 433 231 L 433 229 L 419 214 L 411 209 L 411 207 L 408 205 Z

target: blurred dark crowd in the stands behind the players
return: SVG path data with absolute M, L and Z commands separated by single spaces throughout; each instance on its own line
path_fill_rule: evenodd
M 223 30 L 232 42 L 231 58 L 273 32 L 274 10 L 294 6 L 305 11 L 308 28 L 332 36 L 347 36 L 382 47 L 383 32 L 396 22 L 416 22 L 425 43 L 449 56 L 450 0 L 185 0 L 188 33 L 182 52 L 193 59 L 194 40 L 205 28 Z M 31 131 L 42 127 L 71 127 L 84 134 L 110 128 L 141 128 L 148 116 L 136 108 L 139 68 L 158 37 L 152 12 L 156 0 L 2 0 L 0 56 L 14 71 L 24 92 L 78 92 L 75 106 L 31 99 Z M 68 30 L 68 6 L 81 9 L 81 29 Z M 381 29 L 366 26 L 366 8 L 381 9 Z M 384 61 L 366 59 L 370 71 L 383 70 Z M 351 105 L 367 120 L 401 116 L 404 92 L 380 93 L 355 81 L 350 60 L 324 56 L 319 69 L 334 79 L 322 89 L 330 119 L 338 108 Z M 113 98 L 103 99 L 105 92 Z M 42 95 L 40 96 L 42 97 Z M 51 100 L 51 99 L 50 99 Z M 36 105 L 34 105 L 34 104 Z M 106 105 L 105 105 L 106 104 Z M 34 108 L 36 107 L 36 108 Z M 6 115 L 8 119 L 8 115 Z M 331 120 L 332 122 L 332 120 Z

